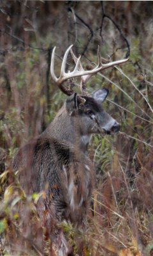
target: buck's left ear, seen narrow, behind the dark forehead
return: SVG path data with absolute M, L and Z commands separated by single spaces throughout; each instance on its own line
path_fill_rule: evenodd
M 70 116 L 75 115 L 77 110 L 77 93 L 73 93 L 71 96 L 68 97 L 68 99 L 65 102 L 65 108 L 66 111 Z

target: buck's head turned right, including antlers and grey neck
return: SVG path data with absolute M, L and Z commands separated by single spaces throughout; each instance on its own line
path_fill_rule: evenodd
M 86 150 L 92 134 L 101 133 L 103 131 L 110 134 L 120 129 L 119 123 L 106 113 L 101 104 L 106 99 L 108 90 L 105 88 L 99 89 L 96 92 L 92 92 L 90 95 L 86 92 L 86 83 L 94 74 L 106 68 L 113 67 L 114 65 L 124 63 L 128 61 L 128 59 L 103 64 L 98 47 L 98 65 L 92 70 L 84 70 L 80 57 L 77 58 L 75 56 L 71 49 L 72 46 L 73 45 L 71 45 L 64 54 L 59 78 L 57 78 L 54 73 L 55 47 L 53 49 L 50 65 L 52 79 L 60 90 L 69 97 L 65 101 L 62 109 L 57 113 L 57 116 L 55 116 L 53 122 L 48 126 L 46 131 L 43 132 L 42 136 L 46 136 L 47 138 L 48 136 L 55 137 L 70 141 L 74 144 L 76 142 L 75 133 L 77 131 L 77 139 L 79 138 L 80 140 L 80 146 L 83 150 Z M 66 73 L 66 60 L 69 51 L 71 51 L 71 56 L 75 61 L 75 68 L 73 71 Z M 81 94 L 77 94 L 71 88 L 63 86 L 64 81 L 72 79 L 73 77 L 81 77 Z

